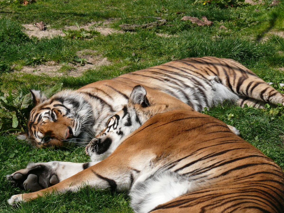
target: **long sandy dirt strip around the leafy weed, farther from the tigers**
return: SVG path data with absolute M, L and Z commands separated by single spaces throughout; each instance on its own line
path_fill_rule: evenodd
M 112 34 L 115 32 L 122 32 L 122 31 L 118 31 L 118 30 L 114 30 L 112 28 L 108 28 L 106 27 L 107 24 L 109 24 L 110 21 L 105 21 L 100 23 L 101 26 L 97 26 L 98 22 L 91 22 L 88 23 L 86 25 L 80 26 L 80 28 L 84 28 L 85 30 L 89 30 L 89 28 L 91 27 L 92 30 L 97 30 L 98 32 L 100 32 L 102 35 L 106 36 L 108 34 Z M 56 29 L 49 29 L 49 26 L 47 27 L 47 30 L 39 30 L 38 27 L 34 26 L 34 24 L 24 24 L 23 25 L 24 28 L 26 28 L 26 30 L 24 30 L 24 32 L 26 34 L 28 34 L 28 36 L 35 36 L 38 38 L 42 38 L 42 37 L 53 37 L 53 36 L 65 36 L 65 34 L 62 32 L 62 30 L 56 30 Z M 71 29 L 71 30 L 78 30 L 78 28 L 74 25 L 74 26 L 68 26 L 64 28 L 65 30 Z

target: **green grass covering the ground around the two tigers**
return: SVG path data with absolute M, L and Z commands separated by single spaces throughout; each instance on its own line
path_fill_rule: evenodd
M 185 57 L 216 56 L 237 60 L 250 68 L 267 82 L 284 83 L 284 38 L 268 32 L 284 31 L 284 5 L 269 7 L 243 5 L 221 9 L 214 4 L 149 0 L 137 1 L 87 1 L 45 0 L 22 6 L 18 1 L 0 1 L 0 94 L 12 91 L 15 97 L 28 89 L 52 87 L 63 83 L 64 88 L 77 89 L 91 82 L 110 79 L 127 72 L 162 64 Z M 214 22 L 212 26 L 199 27 L 181 22 L 183 16 L 199 19 L 205 15 Z M 160 17 L 168 22 L 152 30 L 98 35 L 91 39 L 68 39 L 67 37 L 28 37 L 22 24 L 43 21 L 48 29 L 62 29 L 78 22 L 79 26 L 97 21 L 94 26 L 120 30 L 120 24 L 145 24 Z M 227 30 L 220 29 L 223 25 Z M 95 28 L 94 28 L 95 30 Z M 166 36 L 159 36 L 165 34 Z M 266 40 L 259 42 L 263 37 Z M 78 59 L 78 51 L 91 49 L 111 61 L 109 66 L 90 69 L 80 77 L 63 75 L 35 76 L 18 72 L 22 66 L 36 66 L 48 61 L 62 64 L 64 72 L 70 69 L 68 62 Z M 135 53 L 133 55 L 133 53 Z M 283 93 L 283 89 L 275 86 Z M 30 108 L 26 109 L 26 114 Z M 230 105 L 216 106 L 204 112 L 225 123 L 235 126 L 241 137 L 260 149 L 284 169 L 284 113 L 283 109 L 239 108 Z M 25 122 L 20 121 L 24 127 Z M 65 150 L 31 149 L 26 143 L 15 139 L 13 131 L 0 134 L 0 212 L 131 212 L 125 193 L 83 189 L 37 199 L 22 208 L 12 209 L 7 199 L 22 190 L 7 185 L 6 174 L 24 168 L 28 162 L 51 160 L 87 162 L 89 158 L 82 148 Z

